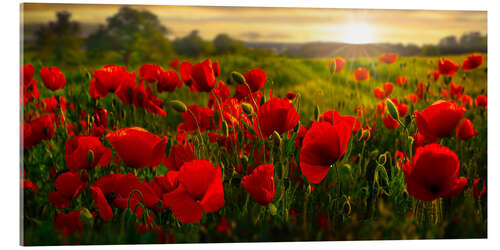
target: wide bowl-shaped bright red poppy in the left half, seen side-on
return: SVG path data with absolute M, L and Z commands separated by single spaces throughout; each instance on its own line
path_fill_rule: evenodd
M 165 158 L 163 139 L 139 127 L 124 128 L 106 135 L 122 161 L 132 168 L 157 166 Z

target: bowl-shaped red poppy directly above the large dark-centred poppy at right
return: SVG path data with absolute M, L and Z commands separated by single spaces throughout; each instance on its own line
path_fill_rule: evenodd
M 447 137 L 457 128 L 466 109 L 453 101 L 437 101 L 415 112 L 418 131 L 431 138 Z

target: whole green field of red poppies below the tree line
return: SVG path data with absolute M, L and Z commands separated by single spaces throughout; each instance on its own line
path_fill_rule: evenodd
M 20 67 L 23 245 L 487 237 L 487 55 Z

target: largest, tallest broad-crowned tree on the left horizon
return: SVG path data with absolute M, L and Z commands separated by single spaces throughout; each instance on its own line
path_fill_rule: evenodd
M 168 33 L 153 13 L 125 6 L 107 19 L 106 26 L 91 34 L 86 44 L 94 56 L 106 50 L 120 53 L 123 63 L 128 66 L 134 52 L 139 52 L 146 61 L 156 61 L 171 54 L 170 43 L 165 37 Z

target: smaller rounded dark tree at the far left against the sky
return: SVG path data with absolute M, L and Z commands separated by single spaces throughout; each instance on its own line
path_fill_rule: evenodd
M 71 13 L 56 12 L 57 21 L 42 25 L 35 32 L 38 57 L 53 59 L 58 63 L 75 63 L 83 55 L 80 24 L 70 21 Z

